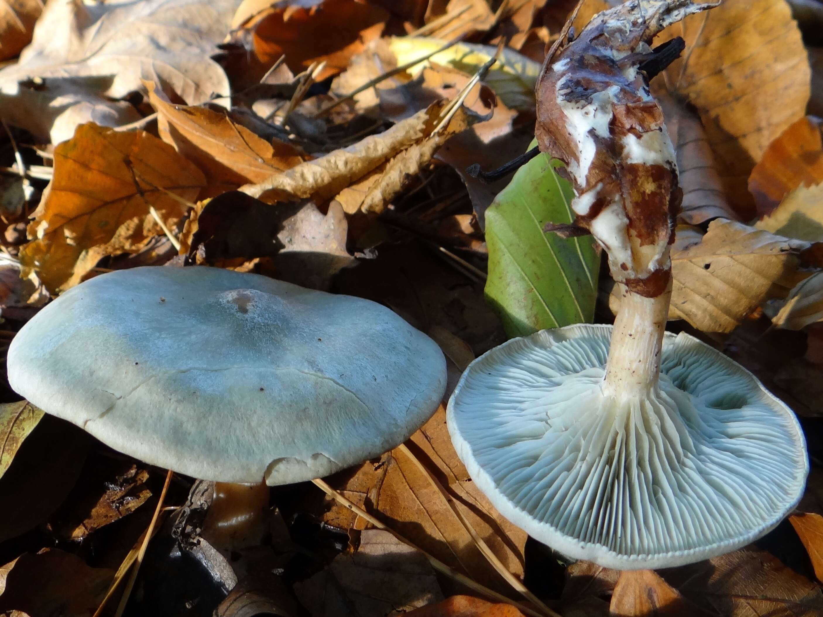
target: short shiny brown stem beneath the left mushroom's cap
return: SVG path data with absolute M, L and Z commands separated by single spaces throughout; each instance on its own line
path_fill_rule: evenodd
M 237 550 L 257 544 L 267 528 L 268 486 L 214 483 L 201 535 L 218 550 Z

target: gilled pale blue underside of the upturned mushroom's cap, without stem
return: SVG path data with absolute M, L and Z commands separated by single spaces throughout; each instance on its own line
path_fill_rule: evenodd
M 666 333 L 658 391 L 604 397 L 611 326 L 513 339 L 463 373 L 449 433 L 495 507 L 560 553 L 667 568 L 773 529 L 808 472 L 797 419 L 745 369 Z

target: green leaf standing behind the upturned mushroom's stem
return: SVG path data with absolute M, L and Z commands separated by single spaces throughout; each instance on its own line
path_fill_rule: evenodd
M 591 322 L 594 316 L 600 256 L 593 238 L 543 233 L 547 222 L 574 220 L 574 192 L 556 174 L 560 165 L 537 155 L 486 210 L 486 299 L 500 313 L 509 336 Z

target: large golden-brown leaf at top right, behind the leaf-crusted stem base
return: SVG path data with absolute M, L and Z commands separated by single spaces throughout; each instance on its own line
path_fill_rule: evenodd
M 806 114 L 811 72 L 800 30 L 785 0 L 724 0 L 661 39 L 675 36 L 686 39 L 686 50 L 656 87 L 695 105 L 729 203 L 749 220 L 751 169 Z

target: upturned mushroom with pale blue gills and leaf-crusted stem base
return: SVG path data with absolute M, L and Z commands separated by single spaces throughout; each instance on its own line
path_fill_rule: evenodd
M 625 293 L 613 327 L 504 343 L 472 363 L 449 431 L 477 485 L 512 522 L 575 559 L 665 568 L 774 528 L 808 471 L 792 411 L 751 373 L 664 332 L 681 190 L 649 72 L 664 27 L 711 5 L 631 0 L 595 16 L 537 85 L 537 139 L 577 197 L 570 233 L 606 251 Z M 669 60 L 670 61 L 670 60 Z

